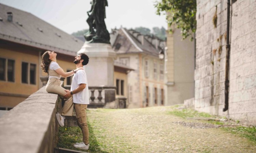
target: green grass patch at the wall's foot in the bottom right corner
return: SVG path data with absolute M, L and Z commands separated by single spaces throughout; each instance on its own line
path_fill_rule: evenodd
M 242 137 L 248 138 L 249 140 L 256 143 L 256 127 L 244 127 L 238 126 L 236 128 L 222 128 L 227 132 L 231 132 L 233 134 L 238 134 Z

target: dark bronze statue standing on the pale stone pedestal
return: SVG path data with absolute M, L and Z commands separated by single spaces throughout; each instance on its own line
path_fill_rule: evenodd
M 109 32 L 104 21 L 106 18 L 105 6 L 108 6 L 108 1 L 92 0 L 90 3 L 91 10 L 87 11 L 88 18 L 86 20 L 89 25 L 89 31 L 84 34 L 84 37 L 88 43 L 110 44 Z

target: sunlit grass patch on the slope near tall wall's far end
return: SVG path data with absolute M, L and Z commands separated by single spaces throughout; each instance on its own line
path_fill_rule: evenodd
M 181 118 L 187 117 L 212 117 L 208 113 L 200 113 L 193 109 L 173 109 L 173 111 L 169 111 L 168 114 L 179 116 Z

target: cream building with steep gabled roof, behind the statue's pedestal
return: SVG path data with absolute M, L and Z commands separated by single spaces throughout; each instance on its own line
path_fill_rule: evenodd
M 127 78 L 128 108 L 166 105 L 164 60 L 158 57 L 165 41 L 120 28 L 112 31 L 111 45 L 116 61 L 134 69 Z

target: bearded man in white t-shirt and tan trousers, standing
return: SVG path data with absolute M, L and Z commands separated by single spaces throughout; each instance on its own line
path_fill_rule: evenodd
M 76 68 L 83 67 L 89 62 L 89 57 L 81 53 L 75 57 L 74 63 Z M 70 98 L 73 96 L 73 104 L 75 108 L 76 118 L 78 126 L 81 128 L 83 133 L 83 142 L 76 143 L 75 148 L 84 150 L 89 149 L 89 130 L 86 119 L 86 108 L 89 104 L 89 89 L 87 84 L 87 77 L 84 70 L 78 70 L 72 79 L 71 91 L 65 90 L 67 93 L 63 96 L 64 98 Z

